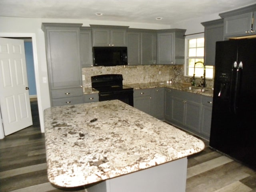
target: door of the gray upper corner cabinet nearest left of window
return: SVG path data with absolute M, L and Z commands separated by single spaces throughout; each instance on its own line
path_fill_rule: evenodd
M 174 62 L 174 33 L 157 34 L 158 64 L 173 64 Z

